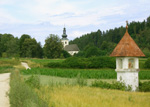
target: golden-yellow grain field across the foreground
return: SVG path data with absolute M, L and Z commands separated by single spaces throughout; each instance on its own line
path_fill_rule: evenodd
M 49 107 L 149 107 L 150 93 L 93 87 L 41 87 L 38 95 Z

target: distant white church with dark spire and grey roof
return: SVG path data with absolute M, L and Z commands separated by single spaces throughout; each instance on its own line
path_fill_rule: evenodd
M 67 51 L 70 55 L 77 54 L 80 51 L 77 44 L 69 45 L 69 40 L 67 38 L 66 28 L 65 27 L 63 29 L 61 42 L 63 44 L 63 49 L 65 51 Z

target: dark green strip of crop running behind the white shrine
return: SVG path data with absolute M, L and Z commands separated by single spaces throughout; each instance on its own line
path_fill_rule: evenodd
M 114 69 L 59 69 L 59 68 L 32 68 L 31 70 L 21 70 L 22 74 L 50 75 L 66 78 L 75 78 L 78 74 L 86 79 L 116 79 L 117 73 Z M 139 78 L 150 79 L 150 70 L 141 70 Z

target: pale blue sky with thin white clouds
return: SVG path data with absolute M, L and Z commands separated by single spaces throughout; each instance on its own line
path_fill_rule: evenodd
M 150 16 L 149 0 L 0 0 L 0 33 L 28 34 L 44 45 L 49 34 L 69 40 Z

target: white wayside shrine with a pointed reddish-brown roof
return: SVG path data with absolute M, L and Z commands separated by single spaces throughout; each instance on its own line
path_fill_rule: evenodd
M 139 87 L 139 57 L 145 55 L 128 33 L 128 22 L 126 32 L 110 56 L 116 57 L 117 81 L 131 86 L 132 91 Z

